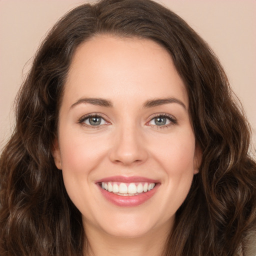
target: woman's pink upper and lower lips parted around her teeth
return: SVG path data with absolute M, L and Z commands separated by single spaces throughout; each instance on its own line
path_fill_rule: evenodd
M 156 183 L 156 184 L 153 189 L 147 192 L 142 192 L 137 195 L 123 196 L 123 195 L 118 195 L 112 192 L 108 192 L 105 189 L 101 188 L 100 182 L 108 182 L 108 181 L 123 182 L 123 183 L 149 182 L 149 183 Z M 100 192 L 105 197 L 105 199 L 107 199 L 108 201 L 110 201 L 111 203 L 117 206 L 126 206 L 126 207 L 137 206 L 144 203 L 154 195 L 154 193 L 157 191 L 158 187 L 160 186 L 159 180 L 154 180 L 154 179 L 139 177 L 139 176 L 131 176 L 131 177 L 111 176 L 111 177 L 99 179 L 95 183 L 97 183 L 98 188 L 100 189 Z

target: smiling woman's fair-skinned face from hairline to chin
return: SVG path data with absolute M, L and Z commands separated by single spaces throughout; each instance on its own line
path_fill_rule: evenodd
M 81 44 L 53 154 L 86 232 L 134 237 L 169 230 L 200 152 L 168 52 L 149 39 L 110 35 Z

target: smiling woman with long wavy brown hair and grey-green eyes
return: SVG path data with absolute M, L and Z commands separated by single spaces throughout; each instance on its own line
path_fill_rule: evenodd
M 18 95 L 0 255 L 246 255 L 249 140 L 221 65 L 180 17 L 150 0 L 78 6 Z

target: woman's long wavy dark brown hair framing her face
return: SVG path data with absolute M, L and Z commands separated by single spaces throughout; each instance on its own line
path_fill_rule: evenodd
M 162 45 L 187 88 L 202 162 L 163 255 L 236 255 L 256 224 L 248 124 L 208 45 L 179 16 L 150 0 L 80 5 L 42 42 L 18 93 L 15 130 L 0 158 L 0 255 L 82 255 L 81 214 L 67 196 L 51 149 L 72 54 L 81 42 L 106 33 Z

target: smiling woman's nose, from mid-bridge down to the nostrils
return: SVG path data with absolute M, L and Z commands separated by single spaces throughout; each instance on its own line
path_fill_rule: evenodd
M 147 157 L 146 144 L 138 127 L 120 127 L 115 131 L 109 152 L 112 162 L 128 166 L 142 163 Z

